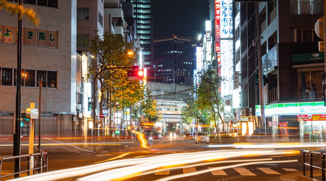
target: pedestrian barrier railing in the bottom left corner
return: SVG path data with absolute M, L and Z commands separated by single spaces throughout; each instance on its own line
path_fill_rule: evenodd
M 11 156 L 11 157 L 4 157 L 0 158 L 0 181 L 4 177 L 9 177 L 12 175 L 20 175 L 22 173 L 27 173 L 28 175 L 33 175 L 33 173 L 42 173 L 47 172 L 48 170 L 48 158 L 47 156 L 45 159 L 43 156 L 46 153 L 33 153 L 33 154 L 25 154 L 25 155 L 18 155 L 18 156 Z M 15 159 L 19 159 L 19 172 L 14 172 L 10 174 L 3 173 L 3 163 L 7 163 L 8 161 L 13 161 Z M 23 159 L 23 161 L 22 161 Z M 36 164 L 38 163 L 38 164 Z M 24 170 L 21 170 L 21 168 L 24 168 Z

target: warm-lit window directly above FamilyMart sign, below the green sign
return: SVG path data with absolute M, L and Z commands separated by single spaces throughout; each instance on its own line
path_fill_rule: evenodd
M 322 99 L 323 71 L 298 72 L 299 100 Z

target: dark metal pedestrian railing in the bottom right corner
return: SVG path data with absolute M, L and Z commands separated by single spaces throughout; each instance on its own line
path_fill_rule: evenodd
M 306 155 L 309 155 L 309 163 L 306 163 Z M 316 161 L 316 163 L 313 162 L 314 155 L 320 156 L 319 161 L 321 162 L 321 167 L 318 166 L 320 162 L 317 162 L 317 161 Z M 321 180 L 324 181 L 325 180 L 325 156 L 326 156 L 326 153 L 323 153 L 323 152 L 304 150 L 303 151 L 303 174 L 306 175 L 305 168 L 306 168 L 306 166 L 308 166 L 310 169 L 310 178 L 313 178 L 313 168 L 318 168 L 318 169 L 321 169 Z

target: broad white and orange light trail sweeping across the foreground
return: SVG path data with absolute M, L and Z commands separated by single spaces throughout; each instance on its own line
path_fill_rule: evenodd
M 250 156 L 275 156 L 297 154 L 297 150 L 273 150 L 273 149 L 248 149 L 248 150 L 215 150 L 200 151 L 189 153 L 175 153 L 143 158 L 129 158 L 122 160 L 114 160 L 104 163 L 97 163 L 77 168 L 57 170 L 37 175 L 31 175 L 15 179 L 15 181 L 43 181 L 43 180 L 62 180 L 71 179 L 72 177 L 80 177 L 78 181 L 98 181 L 98 180 L 114 180 L 129 176 L 140 175 L 148 171 L 156 171 L 157 169 L 168 170 L 174 167 L 188 167 L 192 164 L 211 164 L 216 161 L 221 163 L 229 162 L 229 159 L 239 160 L 239 158 L 248 158 Z M 249 159 L 249 158 L 248 158 Z M 234 162 L 234 160 L 233 160 Z M 265 162 L 265 161 L 261 161 Z M 280 163 L 277 161 L 276 163 Z M 109 170 L 108 170 L 109 169 Z M 126 172 L 128 170 L 128 172 Z M 87 176 L 84 176 L 87 175 Z

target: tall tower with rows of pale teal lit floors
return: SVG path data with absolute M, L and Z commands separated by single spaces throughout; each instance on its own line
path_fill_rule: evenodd
M 151 13 L 151 0 L 120 0 L 120 2 L 130 1 L 134 5 L 134 18 L 136 19 L 137 23 L 137 37 L 140 39 L 141 48 L 144 54 L 144 68 L 151 70 L 153 69 L 153 22 Z

